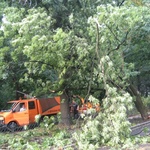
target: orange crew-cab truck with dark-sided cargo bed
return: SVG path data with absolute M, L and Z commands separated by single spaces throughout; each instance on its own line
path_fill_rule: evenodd
M 0 111 L 0 127 L 15 129 L 17 126 L 36 123 L 35 116 L 49 116 L 60 112 L 60 97 L 30 98 L 9 101 Z

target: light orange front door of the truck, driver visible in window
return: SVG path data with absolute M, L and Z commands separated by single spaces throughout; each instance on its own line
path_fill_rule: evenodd
M 20 126 L 29 124 L 27 103 L 18 103 L 13 110 L 13 120 L 15 120 Z

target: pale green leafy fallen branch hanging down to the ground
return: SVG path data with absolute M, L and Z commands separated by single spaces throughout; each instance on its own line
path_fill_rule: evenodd
M 114 69 L 113 63 L 107 66 L 106 61 L 109 64 L 108 57 L 100 61 L 102 67 L 107 68 L 105 78 L 101 74 L 104 83 L 109 78 L 107 71 L 110 68 Z M 113 73 L 116 73 L 115 70 Z M 116 80 L 117 78 L 113 79 L 114 82 Z M 132 98 L 123 90 L 124 88 L 119 90 L 110 85 L 105 85 L 107 97 L 103 99 L 101 112 L 94 119 L 87 117 L 87 123 L 83 125 L 81 132 L 74 134 L 79 149 L 88 149 L 89 146 L 96 149 L 103 145 L 126 149 L 132 145 L 130 123 L 126 120 L 126 111 L 132 108 Z

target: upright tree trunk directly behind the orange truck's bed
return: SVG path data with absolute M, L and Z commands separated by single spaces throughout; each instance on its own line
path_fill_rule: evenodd
M 61 123 L 70 126 L 69 97 L 66 93 L 61 95 Z

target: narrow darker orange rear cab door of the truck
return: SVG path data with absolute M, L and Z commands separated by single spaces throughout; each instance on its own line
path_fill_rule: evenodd
M 35 122 L 35 116 L 38 114 L 38 108 L 36 105 L 36 100 L 28 102 L 28 109 L 29 109 L 29 122 Z

